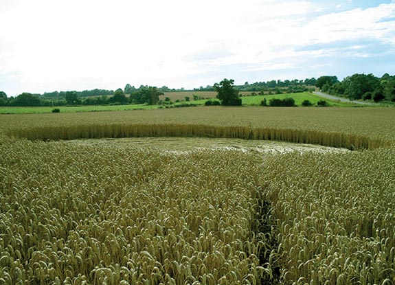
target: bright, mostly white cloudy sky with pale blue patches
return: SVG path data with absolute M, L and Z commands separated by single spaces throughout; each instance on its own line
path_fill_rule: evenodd
M 395 73 L 395 0 L 0 0 L 0 91 Z

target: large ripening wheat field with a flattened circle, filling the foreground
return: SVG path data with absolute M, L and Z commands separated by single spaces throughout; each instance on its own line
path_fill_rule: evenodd
M 1 115 L 0 284 L 393 284 L 394 118 Z M 264 152 L 260 139 L 353 151 Z

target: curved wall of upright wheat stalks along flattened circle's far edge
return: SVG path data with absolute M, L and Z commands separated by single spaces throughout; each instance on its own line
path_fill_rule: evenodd
M 79 126 L 46 126 L 10 130 L 10 137 L 29 140 L 70 140 L 124 137 L 212 137 L 287 141 L 317 144 L 349 150 L 381 148 L 387 141 L 363 135 L 298 130 L 289 128 L 251 128 L 249 126 L 210 126 L 195 124 L 89 124 Z

